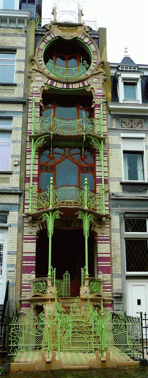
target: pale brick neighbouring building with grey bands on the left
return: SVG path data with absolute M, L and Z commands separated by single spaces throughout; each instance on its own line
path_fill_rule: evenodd
M 11 314 L 20 297 L 31 42 L 31 13 L 19 6 L 0 1 L 0 304 L 9 280 Z

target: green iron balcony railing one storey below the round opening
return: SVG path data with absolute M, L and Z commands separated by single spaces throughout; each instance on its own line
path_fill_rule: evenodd
M 44 117 L 35 116 L 32 123 L 32 135 L 45 132 L 66 135 L 90 133 L 103 136 L 103 125 L 100 114 L 98 118 L 87 118 L 84 116 L 83 118 L 75 119 L 63 119 L 53 117 L 53 115 Z

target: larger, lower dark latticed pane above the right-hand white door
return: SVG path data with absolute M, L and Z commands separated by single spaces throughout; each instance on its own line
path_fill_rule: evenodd
M 146 272 L 148 271 L 148 241 L 147 240 L 126 240 L 126 271 Z

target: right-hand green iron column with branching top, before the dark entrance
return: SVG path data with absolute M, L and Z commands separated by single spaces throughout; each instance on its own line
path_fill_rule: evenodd
M 76 214 L 79 214 L 78 215 L 78 219 L 82 219 L 83 220 L 83 229 L 84 229 L 84 237 L 85 237 L 85 266 L 86 266 L 86 270 L 85 270 L 85 278 L 88 278 L 89 277 L 89 273 L 88 273 L 88 237 L 89 237 L 89 224 L 90 223 L 94 223 L 95 221 L 95 217 L 93 214 L 89 214 L 88 215 L 88 212 L 83 212 L 83 211 L 78 211 L 78 213 Z

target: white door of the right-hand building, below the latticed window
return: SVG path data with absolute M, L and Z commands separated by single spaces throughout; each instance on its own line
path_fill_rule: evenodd
M 148 280 L 128 281 L 128 315 L 140 317 L 140 311 L 148 314 Z

